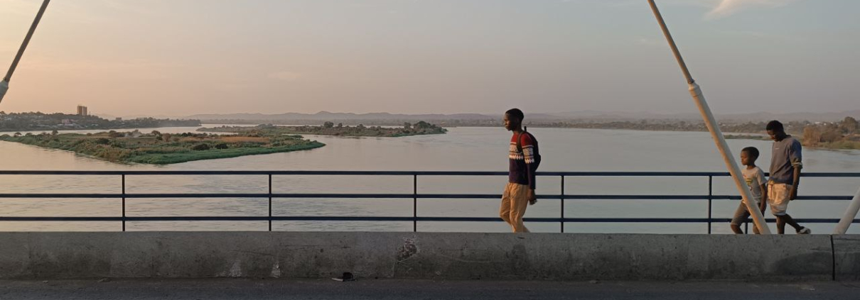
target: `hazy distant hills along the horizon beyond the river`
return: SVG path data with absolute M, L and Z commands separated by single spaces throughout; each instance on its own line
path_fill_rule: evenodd
M 562 122 L 569 120 L 580 121 L 632 121 L 632 120 L 666 120 L 666 121 L 701 121 L 702 118 L 697 113 L 681 113 L 681 114 L 660 114 L 653 112 L 611 112 L 611 111 L 568 111 L 554 113 L 527 113 L 526 119 L 529 121 L 543 122 Z M 770 113 L 770 112 L 754 112 L 746 114 L 726 114 L 716 116 L 721 122 L 762 122 L 767 120 L 780 120 L 783 122 L 789 121 L 810 121 L 810 122 L 832 122 L 839 121 L 845 117 L 855 117 L 860 119 L 860 110 L 842 111 L 842 112 L 793 112 L 793 113 Z M 488 121 L 501 120 L 501 114 L 479 114 L 479 113 L 461 113 L 461 114 L 392 114 L 388 112 L 372 112 L 372 113 L 347 113 L 347 112 L 329 112 L 320 111 L 313 114 L 288 112 L 282 114 L 263 114 L 263 113 L 230 113 L 230 114 L 198 114 L 193 116 L 181 117 L 189 119 L 199 119 L 206 123 L 207 121 L 215 120 L 244 120 L 249 122 L 316 122 L 316 121 L 332 121 L 332 122 L 367 122 L 372 124 L 373 121 L 384 123 L 392 123 L 397 121 L 415 122 L 415 121 Z

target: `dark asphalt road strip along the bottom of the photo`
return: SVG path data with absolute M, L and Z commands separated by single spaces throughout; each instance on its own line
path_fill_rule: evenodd
M 0 299 L 852 299 L 860 282 L 0 280 Z

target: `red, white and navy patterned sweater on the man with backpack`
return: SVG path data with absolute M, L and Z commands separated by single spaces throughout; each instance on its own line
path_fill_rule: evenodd
M 519 146 L 522 151 L 517 148 L 517 138 L 519 137 Z M 507 181 L 509 183 L 518 183 L 528 185 L 531 189 L 535 189 L 535 171 L 537 165 L 535 156 L 538 154 L 537 140 L 534 135 L 529 133 L 517 134 L 511 136 L 511 147 L 508 152 L 508 161 L 510 167 L 507 173 Z

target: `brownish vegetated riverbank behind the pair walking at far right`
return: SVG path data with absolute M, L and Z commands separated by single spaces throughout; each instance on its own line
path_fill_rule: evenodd
M 765 135 L 726 135 L 726 138 L 771 140 L 769 136 Z M 860 149 L 860 124 L 853 117 L 845 117 L 839 122 L 809 123 L 802 127 L 802 136 L 795 135 L 795 138 L 800 140 L 805 147 L 836 150 Z

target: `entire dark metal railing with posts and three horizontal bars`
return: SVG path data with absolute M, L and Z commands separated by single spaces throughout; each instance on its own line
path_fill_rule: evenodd
M 443 176 L 507 176 L 503 171 L 0 171 L 0 175 L 56 175 L 56 176 L 119 176 L 122 189 L 120 194 L 3 194 L 5 198 L 114 198 L 122 201 L 120 217 L 0 217 L 0 221 L 110 221 L 121 222 L 122 231 L 126 231 L 126 222 L 132 221 L 268 221 L 268 231 L 272 231 L 273 221 L 304 220 L 304 221 L 411 221 L 413 231 L 418 231 L 418 222 L 427 221 L 459 221 L 459 222 L 496 222 L 500 218 L 489 217 L 420 217 L 418 215 L 418 199 L 500 199 L 498 194 L 419 194 L 418 177 Z M 126 177 L 129 176 L 267 176 L 267 193 L 126 193 Z M 411 194 L 283 194 L 272 192 L 272 177 L 285 175 L 299 176 L 402 176 L 412 177 L 413 192 Z M 714 195 L 714 177 L 729 177 L 728 172 L 537 172 L 538 177 L 558 177 L 561 179 L 561 193 L 558 195 L 537 195 L 538 199 L 559 200 L 560 215 L 558 218 L 525 218 L 525 222 L 557 222 L 564 232 L 565 223 L 706 223 L 708 233 L 711 224 L 729 222 L 728 218 L 714 218 L 711 214 L 714 200 L 740 200 L 740 195 Z M 860 173 L 803 173 L 803 177 L 860 177 Z M 702 177 L 708 180 L 708 194 L 702 195 L 568 195 L 564 191 L 565 179 L 568 177 Z M 126 216 L 126 199 L 141 198 L 262 198 L 268 199 L 268 214 L 266 216 L 169 216 L 155 217 Z M 360 217 L 360 216 L 276 216 L 272 214 L 273 198 L 364 198 L 364 199 L 411 199 L 412 216 L 410 217 Z M 837 200 L 849 201 L 851 195 L 803 195 L 798 200 Z M 707 200 L 708 214 L 706 218 L 567 218 L 564 216 L 566 200 Z M 773 222 L 773 219 L 768 219 Z M 839 219 L 797 219 L 803 223 L 838 223 Z M 747 225 L 748 225 L 747 221 Z M 860 219 L 854 219 L 860 223 Z

